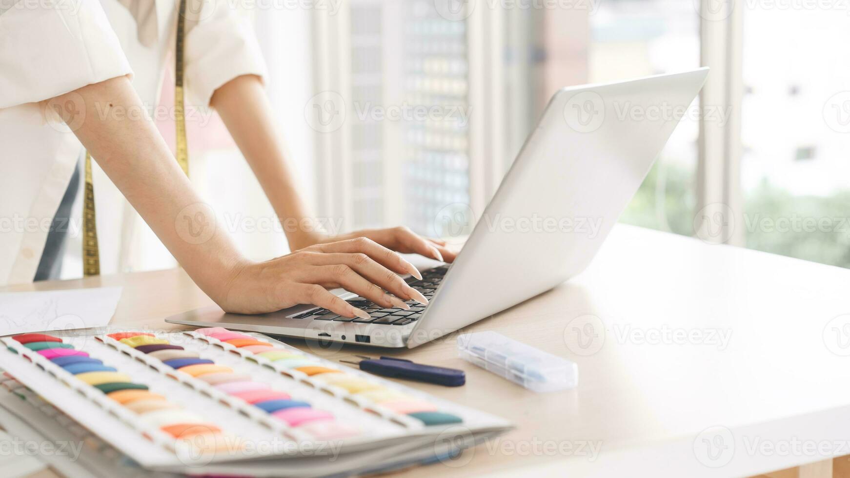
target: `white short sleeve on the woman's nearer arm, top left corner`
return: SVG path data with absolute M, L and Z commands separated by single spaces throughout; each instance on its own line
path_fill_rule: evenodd
M 98 0 L 20 1 L 0 13 L 0 108 L 132 74 Z

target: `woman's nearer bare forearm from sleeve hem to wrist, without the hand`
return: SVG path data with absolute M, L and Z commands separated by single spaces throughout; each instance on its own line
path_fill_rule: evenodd
M 228 278 L 246 261 L 216 227 L 212 208 L 195 194 L 129 80 L 113 78 L 48 102 L 195 283 L 223 300 Z

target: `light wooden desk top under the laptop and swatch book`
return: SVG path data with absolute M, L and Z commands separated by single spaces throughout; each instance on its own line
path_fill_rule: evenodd
M 116 284 L 112 324 L 173 329 L 162 318 L 210 304 L 178 270 L 5 290 Z M 382 351 L 463 368 L 463 387 L 416 386 L 518 427 L 404 475 L 728 476 L 810 464 L 784 475 L 828 476 L 847 464 L 831 458 L 850 454 L 848 313 L 850 270 L 618 226 L 586 273 L 466 329 L 569 357 L 575 391 L 536 394 L 462 362 L 456 335 Z M 291 343 L 333 359 L 375 353 Z

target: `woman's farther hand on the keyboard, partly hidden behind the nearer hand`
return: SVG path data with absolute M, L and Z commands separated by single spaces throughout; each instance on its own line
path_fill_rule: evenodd
M 420 256 L 429 257 L 441 262 L 454 261 L 457 256 L 457 252 L 447 248 L 444 241 L 439 239 L 423 238 L 419 234 L 416 234 L 409 228 L 405 228 L 403 226 L 388 229 L 364 229 L 362 231 L 355 231 L 354 233 L 341 234 L 338 236 L 305 236 L 302 239 L 297 240 L 292 247 L 296 248 L 314 244 L 326 244 L 332 241 L 354 239 L 358 237 L 371 239 L 389 250 L 395 250 L 396 252 L 405 254 L 419 254 Z

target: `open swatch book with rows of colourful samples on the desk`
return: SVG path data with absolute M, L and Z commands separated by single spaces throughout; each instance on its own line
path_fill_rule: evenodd
M 0 425 L 84 443 L 74 466 L 94 475 L 374 473 L 511 428 L 265 335 L 102 332 L 0 338 Z

